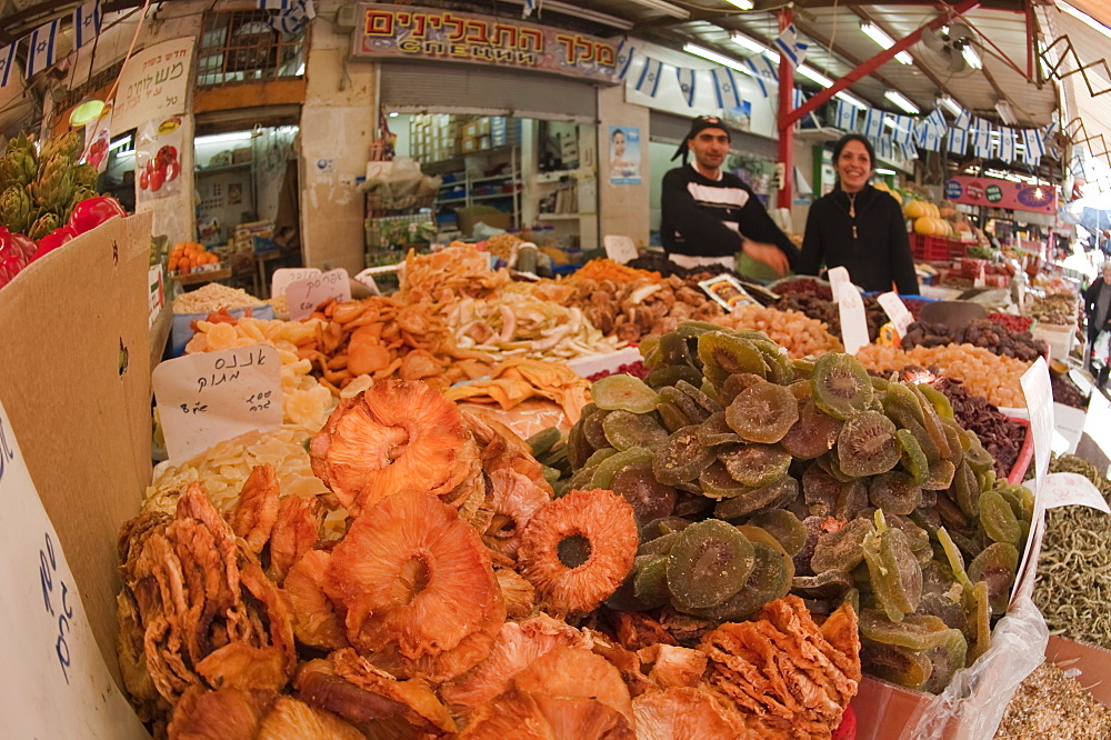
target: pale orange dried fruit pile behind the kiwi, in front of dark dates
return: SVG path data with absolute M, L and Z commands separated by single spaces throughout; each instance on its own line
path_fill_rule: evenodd
M 909 352 L 888 344 L 868 344 L 857 352 L 865 368 L 884 377 L 908 366 L 937 368 L 939 374 L 961 381 L 969 392 L 982 396 L 998 407 L 1021 409 L 1027 406 L 1019 382 L 1029 362 L 995 354 L 971 344 L 915 347 Z

